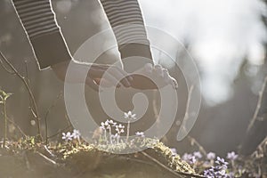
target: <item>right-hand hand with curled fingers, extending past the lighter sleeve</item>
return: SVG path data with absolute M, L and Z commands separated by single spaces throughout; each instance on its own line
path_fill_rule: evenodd
M 131 86 L 136 89 L 158 89 L 166 85 L 172 85 L 174 89 L 178 88 L 178 83 L 175 78 L 171 77 L 168 73 L 168 70 L 162 68 L 160 65 L 152 66 L 152 64 L 147 63 L 142 69 L 138 70 L 137 72 L 141 75 L 130 75 L 130 77 L 134 78 L 130 82 Z M 153 82 L 153 80 L 158 86 Z

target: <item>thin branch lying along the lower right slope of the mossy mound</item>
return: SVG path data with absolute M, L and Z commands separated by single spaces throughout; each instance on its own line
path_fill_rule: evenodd
M 190 174 L 190 173 L 183 173 L 183 172 L 179 172 L 179 171 L 174 171 L 173 169 L 165 166 L 164 164 L 160 163 L 156 158 L 151 157 L 149 154 L 147 154 L 144 151 L 141 151 L 142 155 L 145 156 L 146 158 L 149 158 L 150 160 L 152 160 L 153 162 L 157 163 L 158 166 L 161 166 L 162 168 L 166 169 L 167 171 L 169 171 L 170 173 L 174 174 L 175 176 L 187 176 L 187 177 L 198 177 L 198 178 L 205 178 L 202 175 L 198 175 L 198 174 Z

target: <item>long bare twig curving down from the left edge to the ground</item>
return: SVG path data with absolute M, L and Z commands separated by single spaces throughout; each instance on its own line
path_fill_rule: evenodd
M 28 95 L 30 97 L 30 101 L 33 105 L 34 108 L 34 112 L 36 115 L 36 123 L 37 123 L 37 136 L 40 137 L 40 139 L 42 140 L 42 135 L 41 135 L 41 126 L 40 126 L 40 117 L 39 117 L 39 113 L 37 110 L 37 105 L 36 105 L 36 100 L 34 97 L 34 94 L 32 93 L 30 86 L 28 85 L 28 79 L 26 79 L 25 77 L 21 76 L 21 74 L 19 73 L 19 71 L 17 69 L 14 68 L 14 66 L 12 65 L 12 63 L 10 61 L 8 61 L 4 54 L 0 51 L 0 55 L 3 58 L 4 62 L 12 69 L 12 71 L 14 72 L 14 74 L 20 78 L 20 80 L 22 81 L 22 83 L 26 86 L 27 91 L 28 91 Z M 2 66 L 3 65 L 3 61 L 0 59 Z M 8 70 L 7 70 L 8 71 Z M 10 72 L 9 72 L 10 73 Z

